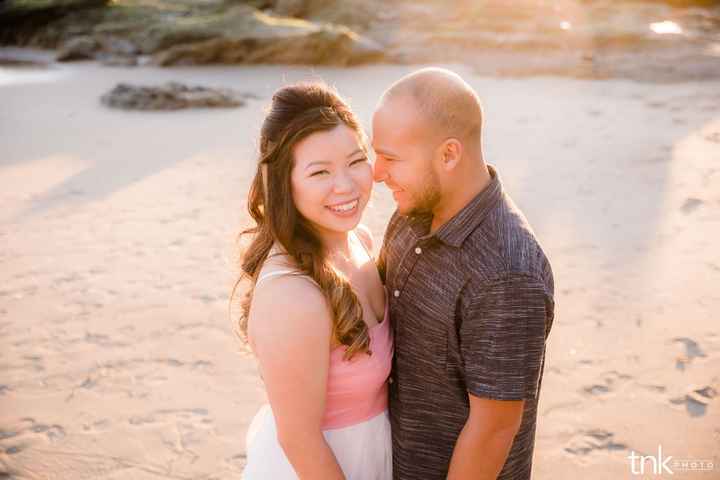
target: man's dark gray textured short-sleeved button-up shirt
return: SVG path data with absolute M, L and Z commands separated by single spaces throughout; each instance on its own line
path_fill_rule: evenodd
M 498 478 L 530 478 L 553 275 L 527 220 L 488 168 L 489 186 L 435 233 L 431 216 L 397 212 L 385 233 L 378 262 L 395 334 L 395 480 L 446 478 L 468 393 L 526 400 Z

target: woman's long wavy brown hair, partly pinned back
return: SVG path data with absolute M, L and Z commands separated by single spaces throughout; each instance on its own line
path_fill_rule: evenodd
M 339 125 L 353 129 L 366 147 L 365 136 L 348 105 L 323 83 L 300 83 L 283 87 L 272 97 L 270 110 L 260 132 L 260 152 L 255 178 L 250 185 L 247 207 L 255 226 L 238 235 L 252 237 L 242 250 L 238 285 L 250 280 L 241 303 L 238 333 L 247 342 L 250 305 L 255 282 L 273 244 L 277 242 L 297 265 L 315 280 L 331 307 L 333 337 L 346 345 L 345 358 L 370 352 L 370 337 L 363 321 L 362 305 L 347 278 L 333 268 L 315 229 L 295 208 L 290 177 L 294 165 L 293 148 L 309 135 L 332 130 Z M 264 174 L 266 177 L 264 178 Z M 298 299 L 302 301 L 302 299 Z

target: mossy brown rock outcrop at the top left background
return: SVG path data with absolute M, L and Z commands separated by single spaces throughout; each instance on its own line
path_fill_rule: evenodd
M 88 2 L 62 15 L 46 15 L 47 21 L 26 23 L 24 30 L 6 35 L 4 43 L 57 48 L 60 61 L 94 58 L 123 65 L 135 63 L 138 55 L 158 65 L 354 65 L 383 56 L 377 42 L 346 26 L 283 17 L 252 3 L 263 6 L 236 0 Z M 34 15 L 39 18 L 40 12 Z

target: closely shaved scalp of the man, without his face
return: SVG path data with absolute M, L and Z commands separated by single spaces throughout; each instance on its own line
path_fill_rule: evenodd
M 458 74 L 444 68 L 423 68 L 388 88 L 380 104 L 410 99 L 433 132 L 462 142 L 480 144 L 482 107 L 475 91 Z

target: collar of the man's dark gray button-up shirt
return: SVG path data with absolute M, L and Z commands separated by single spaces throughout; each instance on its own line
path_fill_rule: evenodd
M 478 193 L 470 202 L 465 205 L 450 220 L 445 222 L 433 234 L 428 234 L 432 223 L 432 214 L 417 215 L 410 218 L 410 226 L 421 239 L 437 238 L 441 242 L 459 247 L 465 239 L 497 204 L 503 194 L 502 182 L 497 170 L 492 165 L 487 165 L 490 172 L 490 183 L 485 189 Z

